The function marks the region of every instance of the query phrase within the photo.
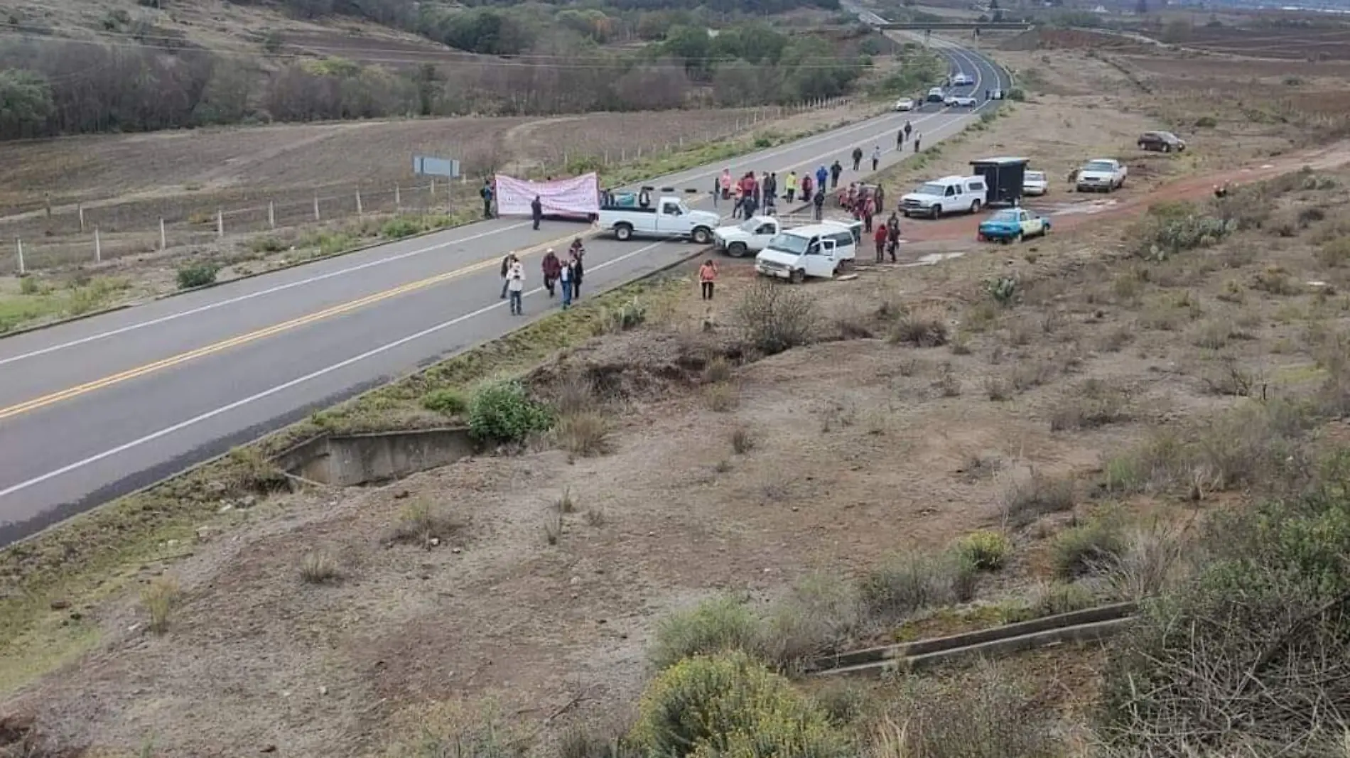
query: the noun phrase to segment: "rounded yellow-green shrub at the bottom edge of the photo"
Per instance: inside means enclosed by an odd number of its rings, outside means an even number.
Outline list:
[[[699,655],[643,693],[633,743],[666,758],[848,758],[848,738],[791,684],[744,653]]]

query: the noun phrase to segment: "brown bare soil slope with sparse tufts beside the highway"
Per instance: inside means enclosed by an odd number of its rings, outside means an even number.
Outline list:
[[[1050,84],[1084,88],[1091,70],[1080,70],[1068,65]],[[1066,171],[1111,146],[1133,150],[1142,113],[1162,108],[1127,90],[1034,100],[937,161],[998,148]],[[608,455],[540,444],[235,508],[227,527],[166,546],[190,556],[124,566],[134,587],[181,583],[165,634],[146,630],[134,593],[73,599],[74,615],[53,612],[96,633],[94,650],[9,693],[0,713],[31,715],[68,747],[130,753],[153,738],[163,755],[332,757],[378,754],[429,707],[493,696],[547,754],[568,726],[632,707],[649,674],[645,645],[670,610],[717,591],[764,600],[807,572],[857,575],[899,549],[1003,529],[1015,483],[1071,479],[1076,504],[1010,529],[1014,568],[981,599],[1021,592],[1048,579],[1048,541],[1075,518],[1180,507],[1166,494],[1103,494],[1103,461],[1243,403],[1223,390],[1233,367],[1273,395],[1322,380],[1308,334],[1343,330],[1350,313],[1350,260],[1326,254],[1350,235],[1331,212],[1350,201],[1350,154],[1292,151],[1303,135],[1262,129],[1197,139],[1183,156],[1130,155],[1152,169],[1099,213],[1058,210],[1045,240],[979,245],[968,218],[907,224],[903,262],[805,287],[824,341],[736,367],[725,411],[710,407],[699,367],[737,337],[753,274],[726,263],[710,305],[690,279],[672,312],[533,375],[545,388],[574,371],[622,378],[603,411]],[[1133,254],[1149,205],[1304,165],[1316,181],[1272,190],[1261,228],[1164,262]],[[1045,202],[1079,202],[1066,197],[1056,189]],[[1007,305],[988,293],[998,278],[1017,282]],[[896,313],[938,324],[945,344],[888,340]],[[1075,422],[1066,411],[1103,387],[1119,413]],[[736,430],[748,450],[733,450]],[[545,525],[564,492],[575,511],[551,544]],[[1187,507],[1224,494],[1197,496]],[[462,527],[431,549],[390,545],[418,500]],[[338,581],[301,580],[315,550],[338,557]],[[1091,705],[1094,664],[1057,661],[1019,665],[1054,684],[1048,707],[1072,722]]]

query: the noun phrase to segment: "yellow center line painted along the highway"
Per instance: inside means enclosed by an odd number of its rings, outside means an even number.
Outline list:
[[[574,237],[578,237],[578,236],[587,236],[589,237],[591,235],[594,235],[594,232],[590,231],[590,229],[587,229],[586,232],[582,232],[579,235],[578,233],[571,233],[571,235],[567,235],[567,236],[563,236],[563,237],[558,237],[558,239],[547,241],[547,243],[540,243],[540,244],[528,247],[524,251],[514,251],[514,252],[516,252],[517,256],[524,258],[524,256],[526,256],[529,254],[539,252],[539,251],[545,250],[548,247],[563,244],[564,241],[567,241],[570,239],[574,239]],[[84,395],[84,394],[88,394],[88,392],[93,392],[96,390],[103,390],[105,387],[111,387],[113,384],[119,384],[122,382],[127,382],[130,379],[136,379],[139,376],[144,376],[144,375],[153,374],[155,371],[162,371],[165,368],[170,368],[170,367],[174,367],[174,366],[178,366],[181,363],[188,363],[189,360],[196,360],[198,357],[204,357],[204,356],[213,355],[213,353],[217,353],[217,352],[221,352],[221,351],[227,351],[230,348],[236,348],[239,345],[246,345],[248,343],[252,343],[252,341],[256,341],[256,340],[262,340],[265,337],[271,337],[274,334],[279,334],[282,332],[288,332],[288,330],[296,329],[298,326],[305,326],[306,324],[315,324],[315,322],[323,321],[325,318],[332,318],[333,316],[340,316],[343,313],[348,313],[348,312],[356,310],[359,308],[364,308],[367,305],[377,303],[377,302],[381,302],[381,301],[385,301],[385,299],[389,299],[389,298],[393,298],[393,297],[398,297],[398,295],[404,295],[404,294],[408,294],[408,293],[412,293],[412,291],[416,291],[416,290],[421,290],[421,289],[429,287],[432,285],[439,285],[439,283],[447,282],[450,279],[456,279],[456,278],[463,276],[466,274],[473,274],[475,271],[482,271],[485,268],[489,268],[491,266],[497,266],[500,263],[501,263],[501,260],[493,260],[493,259],[481,260],[478,263],[474,263],[474,264],[470,264],[470,266],[464,266],[463,268],[456,268],[455,271],[447,271],[444,274],[436,274],[433,276],[427,276],[425,279],[418,279],[416,282],[409,282],[406,285],[400,285],[397,287],[392,287],[392,289],[387,289],[387,290],[383,290],[383,291],[379,291],[379,293],[374,293],[374,294],[366,295],[363,298],[358,298],[358,299],[354,299],[354,301],[348,301],[348,302],[343,302],[343,303],[331,306],[331,308],[325,308],[324,310],[317,310],[315,313],[309,313],[309,314],[301,316],[298,318],[292,318],[290,321],[284,321],[281,324],[274,324],[271,326],[266,326],[266,328],[258,329],[255,332],[248,332],[246,334],[239,334],[236,337],[230,337],[228,340],[221,340],[219,343],[213,343],[213,344],[209,344],[209,345],[200,347],[197,349],[192,349],[192,351],[188,351],[188,352],[184,352],[184,353],[178,353],[178,355],[174,355],[174,356],[170,356],[170,357],[165,357],[165,359],[157,360],[154,363],[147,363],[147,364],[139,366],[136,368],[128,368],[127,371],[122,371],[119,374],[112,374],[112,375],[104,376],[101,379],[94,379],[93,382],[86,382],[84,384],[77,384],[77,386],[66,388],[66,390],[51,392],[49,395],[42,395],[40,398],[34,398],[31,401],[24,401],[22,403],[0,409],[0,421],[3,421],[5,418],[9,418],[9,417],[14,417],[14,415],[19,415],[19,414],[23,414],[23,413],[38,410],[40,407],[46,407],[46,406],[50,406],[53,403],[58,403],[61,401],[68,401],[68,399],[72,399],[72,398],[77,398],[80,395]]]

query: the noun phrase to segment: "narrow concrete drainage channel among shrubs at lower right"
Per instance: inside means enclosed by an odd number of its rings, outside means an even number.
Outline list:
[[[853,650],[819,658],[807,673],[815,677],[879,677],[1069,642],[1098,642],[1133,622],[1135,608],[1135,603],[1114,603],[937,639]]]

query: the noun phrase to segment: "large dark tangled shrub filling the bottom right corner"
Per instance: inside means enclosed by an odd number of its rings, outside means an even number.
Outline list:
[[[1343,459],[1299,498],[1216,514],[1197,576],[1112,642],[1102,732],[1135,754],[1334,755],[1350,703]]]

